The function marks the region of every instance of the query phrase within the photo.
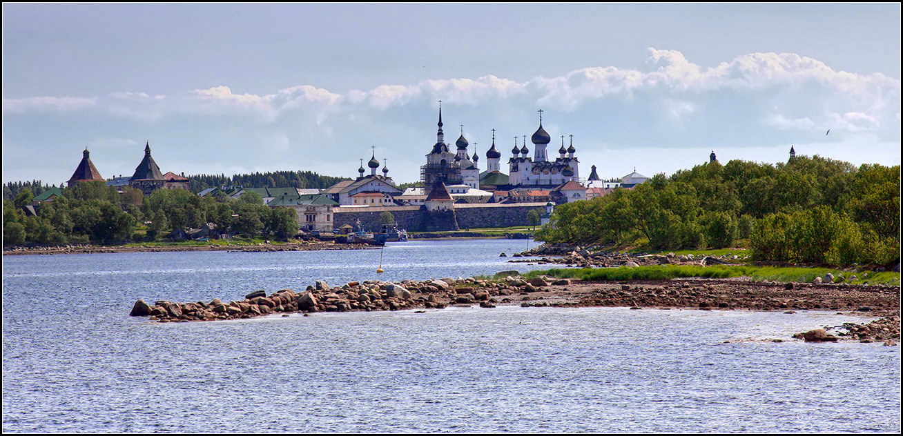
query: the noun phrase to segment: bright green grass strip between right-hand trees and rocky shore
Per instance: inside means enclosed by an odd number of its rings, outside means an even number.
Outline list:
[[[755,281],[811,283],[815,277],[834,275],[834,282],[856,275],[851,284],[893,284],[899,285],[900,274],[892,272],[842,271],[832,268],[777,267],[749,265],[652,265],[619,268],[554,268],[545,271],[531,271],[527,277],[549,275],[560,278],[579,278],[585,281],[625,281],[625,280],[670,280],[680,277],[731,278],[749,277]]]

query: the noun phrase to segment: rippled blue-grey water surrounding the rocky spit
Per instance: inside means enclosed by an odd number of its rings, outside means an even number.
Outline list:
[[[525,271],[387,246],[384,280]],[[3,431],[900,431],[900,348],[825,312],[499,307],[151,324],[135,300],[376,278],[379,251],[3,258]],[[731,343],[724,343],[730,340]]]

